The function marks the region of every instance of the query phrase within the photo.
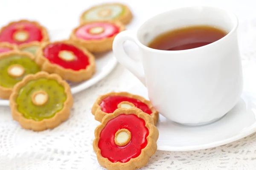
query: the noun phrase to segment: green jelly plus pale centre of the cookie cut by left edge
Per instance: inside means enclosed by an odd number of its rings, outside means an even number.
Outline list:
[[[0,86],[12,88],[28,74],[40,71],[38,65],[29,57],[13,54],[0,59]]]

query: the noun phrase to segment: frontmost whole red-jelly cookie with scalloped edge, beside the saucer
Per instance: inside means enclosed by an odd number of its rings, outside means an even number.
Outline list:
[[[95,129],[93,150],[108,170],[134,170],[147,164],[159,136],[153,118],[138,108],[119,108]]]

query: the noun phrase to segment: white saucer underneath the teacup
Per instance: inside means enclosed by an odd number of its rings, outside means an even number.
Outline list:
[[[148,99],[143,85],[137,85],[129,92]],[[160,115],[157,128],[157,150],[200,150],[236,141],[256,131],[256,93],[243,92],[229,113],[208,125],[180,125]]]

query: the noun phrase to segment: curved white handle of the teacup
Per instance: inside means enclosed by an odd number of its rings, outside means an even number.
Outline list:
[[[129,55],[126,54],[124,50],[123,43],[127,40],[132,41],[137,45],[136,40],[130,31],[122,31],[116,35],[113,41],[114,56],[116,57],[117,61],[121,65],[125,66],[125,68],[127,68],[129,71],[131,71],[131,73],[134,74],[134,76],[136,76],[143,83],[143,85],[146,85],[142,63],[132,59]]]

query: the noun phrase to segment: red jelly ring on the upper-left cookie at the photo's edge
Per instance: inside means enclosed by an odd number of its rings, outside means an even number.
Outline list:
[[[29,34],[28,38],[24,41],[17,41],[14,34],[17,31],[25,31]],[[23,44],[31,41],[41,41],[43,39],[42,31],[33,23],[19,22],[4,28],[0,33],[0,42],[9,42],[12,44]]]

